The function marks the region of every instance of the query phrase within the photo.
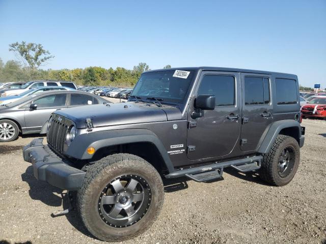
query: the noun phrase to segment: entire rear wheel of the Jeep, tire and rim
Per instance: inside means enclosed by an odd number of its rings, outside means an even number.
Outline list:
[[[290,136],[278,135],[260,168],[260,177],[274,186],[285,186],[294,177],[300,162],[300,147]]]

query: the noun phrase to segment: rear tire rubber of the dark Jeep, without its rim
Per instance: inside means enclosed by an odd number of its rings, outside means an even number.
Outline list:
[[[293,148],[295,155],[294,165],[286,177],[281,177],[278,172],[278,163],[282,150],[286,147]],[[290,136],[278,135],[269,152],[263,156],[260,168],[260,178],[274,186],[285,186],[294,177],[300,162],[300,146],[297,141]]]

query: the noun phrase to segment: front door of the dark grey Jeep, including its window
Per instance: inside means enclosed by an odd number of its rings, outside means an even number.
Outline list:
[[[240,132],[239,74],[202,72],[195,94],[214,95],[215,109],[204,110],[202,117],[193,119],[194,105],[189,108],[188,159],[229,155],[236,146]]]

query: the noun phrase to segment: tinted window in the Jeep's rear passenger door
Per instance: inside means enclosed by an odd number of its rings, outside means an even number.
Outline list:
[[[263,77],[244,77],[244,100],[246,105],[268,104],[269,79]]]

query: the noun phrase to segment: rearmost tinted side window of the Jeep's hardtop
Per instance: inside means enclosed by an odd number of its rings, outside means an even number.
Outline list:
[[[277,104],[296,104],[297,91],[295,80],[275,79]]]

